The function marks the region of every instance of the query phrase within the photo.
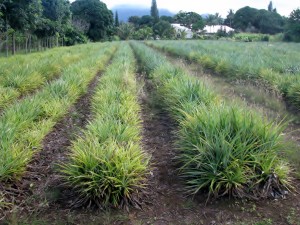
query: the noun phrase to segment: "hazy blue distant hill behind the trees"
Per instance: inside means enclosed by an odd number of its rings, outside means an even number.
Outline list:
[[[118,5],[111,9],[113,13],[118,11],[119,20],[127,22],[130,16],[144,16],[150,15],[150,8],[134,5]],[[167,9],[158,9],[159,16],[174,16],[175,13],[170,12]]]

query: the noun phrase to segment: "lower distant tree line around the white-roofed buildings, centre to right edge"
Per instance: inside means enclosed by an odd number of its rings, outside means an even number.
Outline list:
[[[153,14],[153,8],[157,7],[152,0],[151,15],[131,16],[128,23],[120,24],[118,36],[121,39],[149,39],[159,37],[162,39],[174,39],[184,37],[183,33],[176,33],[172,29],[172,23],[179,23],[190,28],[195,36],[205,25],[227,25],[237,32],[277,34],[283,33],[285,41],[300,41],[300,9],[295,9],[289,17],[283,17],[273,7],[272,1],[266,9],[255,9],[249,6],[236,12],[229,10],[225,19],[219,13],[208,14],[204,17],[196,12],[180,11],[175,16],[158,16]]]

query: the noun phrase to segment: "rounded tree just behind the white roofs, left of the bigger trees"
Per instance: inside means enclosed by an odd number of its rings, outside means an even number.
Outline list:
[[[174,16],[174,21],[192,30],[203,29],[204,27],[204,22],[202,17],[195,12],[180,11]]]

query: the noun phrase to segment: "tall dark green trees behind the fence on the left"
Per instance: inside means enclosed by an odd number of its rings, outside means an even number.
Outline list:
[[[6,55],[108,39],[113,13],[99,0],[0,0],[0,50]]]

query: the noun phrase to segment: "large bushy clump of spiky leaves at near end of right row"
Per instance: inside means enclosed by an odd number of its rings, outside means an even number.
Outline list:
[[[288,166],[277,155],[282,148],[280,125],[219,105],[201,106],[179,128],[180,172],[190,193],[207,188],[215,196],[266,197],[257,189],[272,173],[279,176],[280,185],[289,181]]]

